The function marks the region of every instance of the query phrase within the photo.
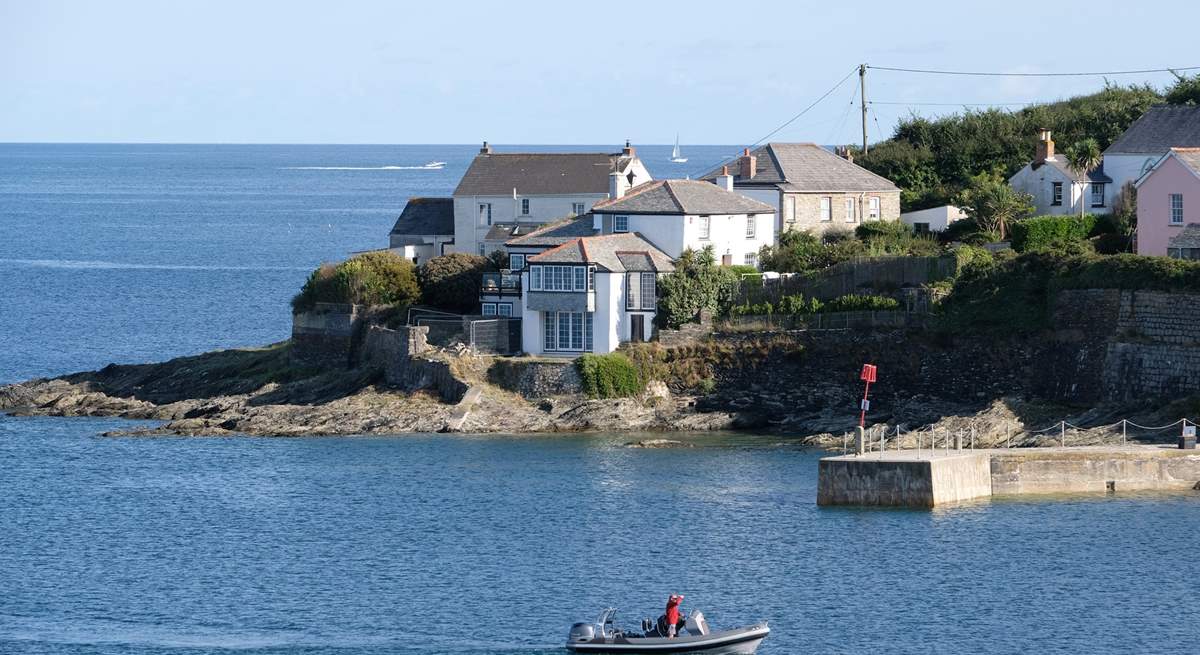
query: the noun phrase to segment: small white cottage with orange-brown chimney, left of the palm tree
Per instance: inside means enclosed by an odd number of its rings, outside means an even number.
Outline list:
[[[1108,158],[1088,173],[1075,173],[1067,158],[1055,152],[1050,131],[1043,130],[1033,161],[1008,179],[1014,190],[1033,197],[1038,216],[1049,214],[1108,214],[1112,206],[1112,178]]]

